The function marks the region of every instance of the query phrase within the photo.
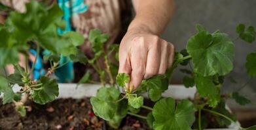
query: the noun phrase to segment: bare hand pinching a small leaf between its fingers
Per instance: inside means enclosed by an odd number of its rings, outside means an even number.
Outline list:
[[[126,32],[119,49],[119,73],[131,80],[126,87],[135,89],[143,79],[164,74],[172,66],[174,45],[150,32]],[[133,89],[133,88],[132,88]]]

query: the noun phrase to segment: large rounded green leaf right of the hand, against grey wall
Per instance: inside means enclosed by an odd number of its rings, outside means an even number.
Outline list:
[[[200,31],[189,38],[187,52],[200,75],[226,75],[233,68],[234,45],[225,33]]]

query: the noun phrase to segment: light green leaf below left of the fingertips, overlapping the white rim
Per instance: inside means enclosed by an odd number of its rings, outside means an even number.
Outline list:
[[[119,99],[119,96],[119,90],[114,87],[100,88],[96,97],[90,98],[94,113],[104,120],[111,120],[117,111],[118,104],[116,101]]]

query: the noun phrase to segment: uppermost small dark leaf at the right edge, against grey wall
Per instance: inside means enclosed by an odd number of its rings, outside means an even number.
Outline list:
[[[249,26],[246,29],[246,25],[240,23],[236,26],[236,33],[238,33],[239,37],[246,42],[252,43],[255,41],[256,32],[252,26]]]

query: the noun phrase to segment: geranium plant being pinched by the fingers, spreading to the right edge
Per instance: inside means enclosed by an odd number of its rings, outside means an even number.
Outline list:
[[[156,130],[204,129],[206,124],[210,123],[204,114],[210,113],[220,126],[227,127],[233,122],[240,129],[256,129],[256,126],[241,127],[236,123],[234,115],[225,107],[227,98],[233,98],[240,105],[246,105],[251,101],[240,95],[238,91],[231,94],[220,92],[225,75],[233,69],[232,40],[228,34],[220,31],[210,33],[202,25],[196,25],[196,29],[197,33],[189,38],[186,49],[175,53],[174,64],[166,74],[143,80],[137,90],[132,90],[133,86],[128,90],[126,85],[130,81],[130,76],[119,73],[116,78],[117,87],[111,85],[100,88],[96,97],[90,99],[95,114],[107,120],[115,128],[119,127],[122,118],[130,114],[147,120],[148,125]],[[246,29],[244,24],[239,24],[236,32],[238,38],[246,42],[251,43],[255,40],[256,33],[251,26]],[[196,86],[197,92],[192,100],[176,101],[170,97],[162,97],[162,92],[168,89],[173,70],[179,64],[191,66],[191,70],[181,69],[181,72],[187,73],[183,77],[185,87]],[[256,76],[255,66],[256,53],[249,53],[246,68],[252,78]],[[123,94],[120,93],[119,87],[124,88]],[[143,105],[141,94],[145,92],[149,99],[155,102],[153,107]],[[139,115],[139,109],[149,110],[147,116]]]

